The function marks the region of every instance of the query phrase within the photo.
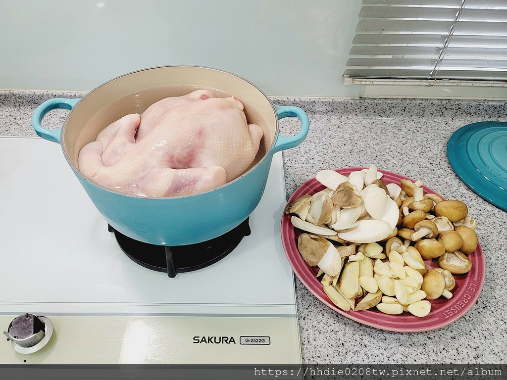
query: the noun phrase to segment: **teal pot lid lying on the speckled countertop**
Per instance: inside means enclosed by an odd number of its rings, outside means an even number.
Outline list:
[[[507,210],[507,123],[481,122],[461,127],[447,143],[447,158],[468,187]]]

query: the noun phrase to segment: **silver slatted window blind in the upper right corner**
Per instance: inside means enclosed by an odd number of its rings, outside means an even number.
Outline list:
[[[345,83],[507,85],[507,0],[363,0],[359,18]]]

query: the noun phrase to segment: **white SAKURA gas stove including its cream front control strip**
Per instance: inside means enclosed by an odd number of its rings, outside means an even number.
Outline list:
[[[5,337],[0,364],[300,364],[284,205],[278,153],[251,234],[169,278],[122,252],[59,145],[0,137],[0,329],[25,313],[53,324],[31,354]]]

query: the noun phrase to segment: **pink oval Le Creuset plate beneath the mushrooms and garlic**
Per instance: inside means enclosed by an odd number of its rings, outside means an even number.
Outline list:
[[[344,168],[337,169],[336,171],[348,176],[350,172],[361,169],[364,168]],[[400,184],[400,179],[407,178],[385,170],[379,171],[384,174],[382,180],[386,184],[392,182]],[[296,190],[291,199],[289,199],[288,203],[293,202],[305,194],[313,195],[323,189],[324,186],[315,178],[312,178]],[[438,194],[426,186],[424,186],[424,193]],[[318,272],[318,268],[309,267],[301,257],[301,254],[298,251],[298,237],[301,233],[302,232],[300,230],[296,229],[292,225],[291,217],[289,215],[283,215],[281,222],[283,248],[285,249],[287,259],[291,264],[294,273],[296,273],[296,276],[298,276],[308,290],[310,290],[325,305],[329,306],[339,314],[367,326],[399,332],[429,331],[446,326],[457,320],[470,310],[470,308],[472,308],[475,301],[479,298],[479,293],[481,292],[484,283],[484,275],[486,273],[484,256],[481,244],[479,244],[475,252],[468,255],[468,258],[472,261],[472,270],[464,275],[454,276],[456,279],[456,287],[452,290],[453,297],[451,299],[441,297],[439,299],[430,300],[431,312],[426,317],[419,318],[406,312],[401,315],[388,315],[381,313],[376,309],[344,312],[336,307],[322,290],[322,285],[320,284],[319,279],[315,277]],[[437,260],[426,260],[426,267],[428,269],[438,267]]]

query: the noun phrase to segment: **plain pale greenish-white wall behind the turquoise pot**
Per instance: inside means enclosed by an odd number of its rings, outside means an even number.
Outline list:
[[[360,0],[0,0],[0,89],[88,91],[160,65],[268,95],[357,97],[341,76]]]

